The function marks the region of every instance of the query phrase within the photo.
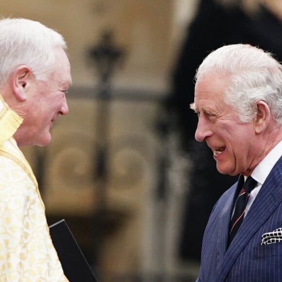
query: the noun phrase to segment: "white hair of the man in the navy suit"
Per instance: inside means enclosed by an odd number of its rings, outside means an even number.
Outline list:
[[[247,44],[223,46],[204,59],[195,79],[211,73],[230,76],[224,101],[237,111],[240,122],[256,116],[256,103],[261,100],[282,127],[282,66],[271,53]]]

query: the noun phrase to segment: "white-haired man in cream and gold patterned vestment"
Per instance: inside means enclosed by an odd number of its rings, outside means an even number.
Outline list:
[[[71,68],[63,37],[39,22],[0,20],[0,281],[67,281],[33,171],[18,146],[45,146]]]

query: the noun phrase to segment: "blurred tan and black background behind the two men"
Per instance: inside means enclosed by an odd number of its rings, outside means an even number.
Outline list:
[[[70,113],[23,148],[49,225],[65,218],[99,282],[190,282],[212,207],[236,177],[194,141],[194,73],[249,43],[282,60],[281,0],[1,1],[66,39]]]

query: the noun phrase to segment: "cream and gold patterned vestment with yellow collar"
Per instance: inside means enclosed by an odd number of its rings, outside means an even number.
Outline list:
[[[14,133],[22,119],[0,96],[0,281],[62,282],[44,204]]]

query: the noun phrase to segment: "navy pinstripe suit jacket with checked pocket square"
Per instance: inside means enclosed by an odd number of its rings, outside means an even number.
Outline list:
[[[220,197],[212,210],[197,282],[282,282],[282,242],[261,246],[264,233],[282,227],[282,157],[265,179],[226,250],[236,185]]]

